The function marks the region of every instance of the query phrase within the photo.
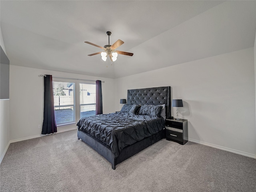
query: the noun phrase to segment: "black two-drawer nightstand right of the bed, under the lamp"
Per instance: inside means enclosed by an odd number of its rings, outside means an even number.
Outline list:
[[[172,140],[184,145],[188,142],[188,120],[166,119],[166,140]]]

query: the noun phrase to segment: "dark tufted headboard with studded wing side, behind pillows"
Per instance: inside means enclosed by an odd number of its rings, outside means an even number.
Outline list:
[[[162,105],[166,107],[166,118],[171,118],[171,87],[153,87],[127,90],[127,104]]]

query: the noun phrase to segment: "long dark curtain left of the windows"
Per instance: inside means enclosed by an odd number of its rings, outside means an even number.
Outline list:
[[[57,126],[54,115],[54,97],[52,88],[52,76],[44,76],[44,121],[42,134],[51,134],[57,132]]]

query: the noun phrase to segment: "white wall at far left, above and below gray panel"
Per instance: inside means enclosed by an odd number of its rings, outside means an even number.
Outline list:
[[[5,51],[2,31],[0,28],[0,45]],[[10,125],[9,125],[9,100],[0,100],[0,163],[4,158],[4,154],[9,146],[10,141]]]

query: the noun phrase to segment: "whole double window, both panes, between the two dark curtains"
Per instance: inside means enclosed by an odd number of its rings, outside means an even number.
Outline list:
[[[74,124],[82,117],[96,114],[96,84],[54,79],[53,94],[57,126]]]

